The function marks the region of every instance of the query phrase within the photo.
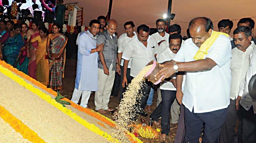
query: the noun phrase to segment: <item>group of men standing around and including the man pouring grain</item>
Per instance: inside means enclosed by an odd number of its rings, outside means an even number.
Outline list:
[[[119,27],[118,27],[119,28]],[[166,29],[168,28],[168,33]],[[104,16],[91,20],[88,31],[80,33],[76,83],[71,101],[87,107],[95,91],[95,110],[104,114],[113,96],[123,93],[131,80],[150,61],[163,68],[155,75],[161,79],[157,89],[157,107],[149,116],[155,124],[161,117],[161,139],[178,124],[175,142],[234,143],[256,142],[256,106],[248,93],[248,83],[255,74],[256,40],[252,37],[254,21],[240,19],[230,37],[233,22],[223,19],[219,31],[213,31],[209,18],[190,21],[185,41],[178,24],[167,27],[156,20],[155,34],[140,25],[135,31],[132,21],[124,23],[125,33],[116,35],[117,22]],[[154,85],[146,80],[142,98],[134,112],[147,117]],[[136,117],[135,117],[136,118]],[[239,123],[238,132],[235,131]],[[203,130],[202,130],[203,129]],[[202,140],[199,140],[203,132]]]

